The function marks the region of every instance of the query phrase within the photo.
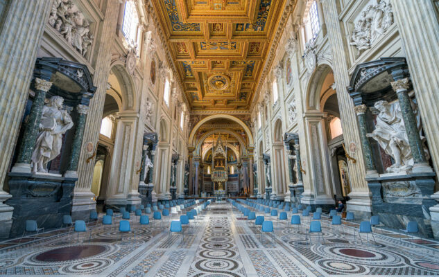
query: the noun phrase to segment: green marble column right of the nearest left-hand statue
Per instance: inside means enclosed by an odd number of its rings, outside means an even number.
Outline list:
[[[78,162],[80,154],[80,146],[83,143],[85,119],[87,118],[89,107],[85,105],[78,105],[78,118],[76,119],[74,141],[71,144],[71,154],[69,160],[69,168],[64,173],[64,177],[78,178]]]

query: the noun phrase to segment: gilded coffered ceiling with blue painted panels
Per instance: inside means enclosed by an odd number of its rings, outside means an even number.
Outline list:
[[[250,107],[286,0],[152,0],[197,110]]]

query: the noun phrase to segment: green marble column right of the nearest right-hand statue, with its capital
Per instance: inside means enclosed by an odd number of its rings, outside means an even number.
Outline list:
[[[392,88],[396,91],[399,106],[401,107],[402,119],[404,119],[404,125],[408,136],[408,143],[410,144],[411,153],[413,155],[413,161],[416,163],[427,163],[424,154],[424,146],[420,138],[418,124],[416,122],[415,114],[411,108],[411,100],[408,97],[408,78],[403,78],[392,82]]]

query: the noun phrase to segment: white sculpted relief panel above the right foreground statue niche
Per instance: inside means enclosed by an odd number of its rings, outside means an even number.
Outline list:
[[[372,47],[377,38],[386,33],[393,24],[393,11],[390,3],[373,0],[354,20],[354,30],[350,44],[355,46],[359,55]]]

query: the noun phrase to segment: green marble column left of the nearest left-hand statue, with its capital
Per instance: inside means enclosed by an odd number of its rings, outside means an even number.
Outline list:
[[[17,163],[31,163],[33,148],[39,132],[44,99],[46,98],[46,92],[51,87],[51,82],[35,78],[35,98],[33,99],[31,112],[24,127],[23,141],[21,142]]]

